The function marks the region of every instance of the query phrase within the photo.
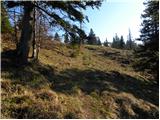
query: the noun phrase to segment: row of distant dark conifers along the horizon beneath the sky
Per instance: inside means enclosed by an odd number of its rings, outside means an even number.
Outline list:
[[[78,44],[80,42],[78,39],[75,40],[72,37],[70,37],[67,32],[63,36],[64,36],[64,43],[65,44],[74,44],[74,43]],[[63,41],[62,37],[60,37],[60,35],[58,33],[55,33],[52,40],[56,40],[59,42]],[[115,36],[113,37],[113,42],[109,43],[108,40],[106,39],[106,41],[104,41],[104,43],[102,43],[100,38],[98,36],[96,36],[96,34],[94,33],[93,29],[90,29],[89,34],[86,36],[86,38],[84,38],[82,40],[82,44],[100,45],[100,46],[103,45],[106,47],[110,46],[112,48],[128,49],[128,50],[136,49],[136,47],[138,46],[135,43],[135,41],[132,39],[130,30],[129,30],[128,39],[126,42],[125,42],[123,36],[119,37],[117,34],[115,34]]]

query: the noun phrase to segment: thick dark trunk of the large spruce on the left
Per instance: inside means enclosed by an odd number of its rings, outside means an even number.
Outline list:
[[[27,4],[24,6],[22,32],[18,47],[18,55],[21,64],[26,64],[28,62],[28,54],[32,36],[32,12],[32,4],[30,2],[27,2]]]

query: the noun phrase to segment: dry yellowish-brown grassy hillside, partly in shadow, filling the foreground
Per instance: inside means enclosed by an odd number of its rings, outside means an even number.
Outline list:
[[[2,53],[1,117],[158,118],[158,87],[133,70],[130,51],[85,46],[75,53],[44,44],[39,63],[25,68]]]

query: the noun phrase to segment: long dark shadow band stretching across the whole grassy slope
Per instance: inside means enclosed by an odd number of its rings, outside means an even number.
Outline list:
[[[32,88],[40,88],[49,83],[54,91],[65,94],[74,93],[75,88],[79,88],[85,94],[93,91],[99,94],[103,91],[127,92],[154,105],[159,105],[158,86],[143,79],[117,71],[105,73],[94,69],[66,69],[55,73],[54,67],[41,63],[30,63],[28,66],[20,67],[14,63],[12,54],[12,52],[2,53],[2,79],[16,80],[19,84]]]

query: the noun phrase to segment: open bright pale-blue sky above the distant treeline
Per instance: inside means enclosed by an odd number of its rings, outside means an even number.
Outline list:
[[[90,8],[85,11],[90,22],[86,22],[84,29],[89,33],[92,28],[101,42],[106,38],[112,42],[116,33],[119,37],[123,35],[126,41],[129,29],[132,38],[138,38],[141,14],[145,9],[143,2],[144,0],[104,0],[99,10]]]

